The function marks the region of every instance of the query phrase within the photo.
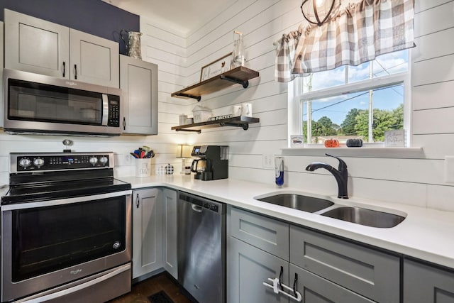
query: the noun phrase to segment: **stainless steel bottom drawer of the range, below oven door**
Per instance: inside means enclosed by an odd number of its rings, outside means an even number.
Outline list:
[[[16,303],[87,303],[106,302],[131,292],[131,263],[41,292]]]

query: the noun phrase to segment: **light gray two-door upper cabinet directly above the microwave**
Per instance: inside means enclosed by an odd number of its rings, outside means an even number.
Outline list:
[[[118,43],[5,9],[5,67],[119,87]]]

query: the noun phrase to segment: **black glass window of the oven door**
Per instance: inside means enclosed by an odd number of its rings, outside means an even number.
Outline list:
[[[12,280],[119,253],[126,248],[126,198],[12,211]]]

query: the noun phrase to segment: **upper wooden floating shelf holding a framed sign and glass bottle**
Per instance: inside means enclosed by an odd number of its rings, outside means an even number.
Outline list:
[[[174,92],[172,93],[172,97],[184,99],[192,98],[200,101],[201,96],[204,94],[218,92],[221,89],[226,89],[227,87],[231,87],[235,84],[241,84],[243,85],[243,88],[246,88],[249,86],[249,80],[258,76],[259,73],[255,70],[250,70],[248,67],[240,66],[224,72],[221,75],[217,75],[190,87],[181,89],[178,92]]]

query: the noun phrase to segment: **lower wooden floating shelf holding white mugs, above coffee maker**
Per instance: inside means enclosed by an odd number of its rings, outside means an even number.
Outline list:
[[[199,123],[192,123],[180,126],[172,126],[172,130],[175,131],[193,131],[201,133],[201,128],[214,128],[221,126],[234,126],[243,128],[245,131],[248,130],[250,123],[259,123],[260,119],[247,117],[247,116],[236,116],[226,119],[218,119],[214,121],[204,121]]]

